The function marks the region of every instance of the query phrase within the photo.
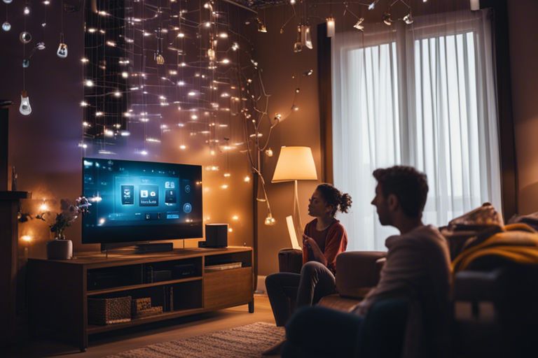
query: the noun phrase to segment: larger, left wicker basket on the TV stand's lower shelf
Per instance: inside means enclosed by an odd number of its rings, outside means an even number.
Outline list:
[[[130,322],[131,296],[115,299],[88,299],[89,324]]]

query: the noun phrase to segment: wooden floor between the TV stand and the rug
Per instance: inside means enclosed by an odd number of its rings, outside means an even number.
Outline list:
[[[78,348],[53,341],[36,341],[24,347],[15,347],[12,352],[0,352],[1,357],[104,357],[114,353],[142,348],[154,343],[174,341],[180,338],[200,336],[213,331],[243,326],[254,322],[275,323],[267,296],[254,296],[254,313],[247,305],[227,308],[212,313],[181,317],[176,320],[146,324],[132,329],[90,336],[86,352]]]

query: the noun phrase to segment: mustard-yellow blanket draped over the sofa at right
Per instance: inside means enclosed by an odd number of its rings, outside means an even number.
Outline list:
[[[538,233],[527,224],[508,224],[502,232],[457,255],[452,262],[453,273],[485,256],[498,256],[519,264],[538,264]]]

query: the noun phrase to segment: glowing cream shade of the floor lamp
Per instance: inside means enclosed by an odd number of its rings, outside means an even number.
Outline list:
[[[310,147],[282,147],[271,182],[317,180],[316,166]]]

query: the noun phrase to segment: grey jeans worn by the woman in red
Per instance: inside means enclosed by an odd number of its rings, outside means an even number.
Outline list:
[[[307,262],[298,273],[273,273],[265,278],[265,287],[278,327],[284,326],[291,316],[291,302],[296,307],[312,306],[322,297],[336,292],[333,273],[319,262]]]

